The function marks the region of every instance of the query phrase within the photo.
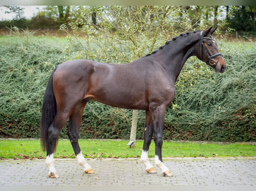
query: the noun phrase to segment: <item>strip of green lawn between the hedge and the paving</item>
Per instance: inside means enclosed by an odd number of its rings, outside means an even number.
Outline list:
[[[81,150],[87,158],[140,157],[143,141],[136,141],[130,149],[125,140],[79,140]],[[39,140],[0,140],[0,158],[44,158]],[[154,142],[149,148],[149,157],[154,157]],[[163,142],[162,157],[245,157],[256,156],[256,146],[249,144],[177,143]],[[59,140],[55,158],[75,158],[69,140]]]

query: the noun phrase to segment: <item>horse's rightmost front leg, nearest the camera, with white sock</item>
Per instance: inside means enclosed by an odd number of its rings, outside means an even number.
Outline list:
[[[163,164],[162,160],[162,145],[163,145],[163,122],[165,115],[165,106],[151,110],[151,116],[154,127],[154,142],[155,142],[155,164],[162,171],[164,176],[173,176],[171,171]]]

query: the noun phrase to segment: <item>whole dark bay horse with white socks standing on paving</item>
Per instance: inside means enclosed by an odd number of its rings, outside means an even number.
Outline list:
[[[155,165],[161,169],[163,176],[173,176],[162,161],[165,109],[174,98],[175,82],[189,57],[196,56],[218,73],[225,71],[225,61],[211,36],[215,30],[211,27],[180,34],[157,51],[128,64],[73,60],[54,68],[43,97],[40,122],[41,147],[47,150],[48,176],[59,177],[53,165],[53,153],[59,132],[68,118],[67,133],[78,164],[86,173],[94,173],[78,143],[81,118],[90,100],[114,107],[145,110],[140,160],[146,166],[146,172],[156,173],[148,160],[153,137]]]

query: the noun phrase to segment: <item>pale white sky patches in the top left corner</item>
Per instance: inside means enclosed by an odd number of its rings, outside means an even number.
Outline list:
[[[31,18],[34,14],[38,13],[39,10],[42,10],[43,7],[45,6],[20,6],[24,7],[24,17],[29,19]],[[6,9],[5,7],[0,7],[0,20],[12,20],[16,14],[15,13],[5,13],[5,11],[8,11],[9,9]]]

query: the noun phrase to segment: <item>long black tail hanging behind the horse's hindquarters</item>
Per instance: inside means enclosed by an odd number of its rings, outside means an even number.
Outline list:
[[[41,112],[41,122],[40,122],[40,139],[41,139],[41,148],[42,150],[47,150],[48,145],[48,128],[51,125],[56,112],[57,112],[57,104],[56,99],[53,93],[52,87],[52,76],[57,67],[52,71],[44,96],[43,96],[43,104],[42,104],[42,112]],[[55,144],[56,147],[56,144]],[[55,148],[54,148],[55,150]]]

